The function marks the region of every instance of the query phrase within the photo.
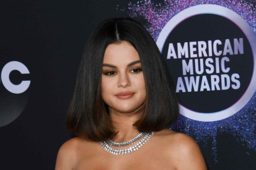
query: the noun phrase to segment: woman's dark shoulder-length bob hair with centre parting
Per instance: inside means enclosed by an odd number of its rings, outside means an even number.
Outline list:
[[[101,76],[106,47],[122,41],[138,51],[146,84],[143,114],[134,126],[140,132],[160,131],[178,118],[178,100],[154,39],[137,21],[109,19],[100,23],[88,39],[68,109],[67,127],[80,137],[106,141],[116,134],[102,99]]]

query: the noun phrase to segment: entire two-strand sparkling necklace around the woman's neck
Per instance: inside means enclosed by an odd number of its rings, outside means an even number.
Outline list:
[[[118,142],[114,142],[110,139],[108,141],[101,141],[100,144],[104,148],[104,150],[106,150],[106,152],[108,152],[110,154],[115,154],[115,155],[121,155],[121,154],[124,155],[127,153],[130,154],[132,152],[136,152],[136,150],[143,147],[143,145],[145,145],[148,142],[148,140],[152,137],[153,134],[154,134],[154,132],[150,132],[150,133],[142,132],[138,136],[134,137],[133,139],[131,139],[130,141],[127,141],[127,142],[118,143]],[[141,140],[136,145],[134,145],[132,147],[128,147],[126,149],[114,149],[114,148],[110,147],[110,146],[125,147],[128,145],[132,145],[134,142],[138,141],[139,139],[141,139]]]

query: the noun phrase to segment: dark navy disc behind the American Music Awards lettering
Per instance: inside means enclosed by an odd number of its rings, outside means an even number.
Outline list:
[[[212,74],[207,74],[204,71],[202,74],[197,74],[195,72],[194,65],[196,62],[195,59],[199,60],[198,63],[201,63],[200,59],[202,59],[204,63],[204,69],[207,69],[208,67],[205,66],[205,62],[206,59],[208,59],[209,57],[182,57],[182,59],[167,59],[166,57],[164,58],[167,65],[170,66],[170,73],[174,80],[175,86],[177,84],[178,77],[184,77],[182,73],[182,60],[185,60],[186,63],[189,63],[190,60],[193,62],[194,74],[187,74],[186,76],[188,78],[190,78],[190,76],[193,76],[194,79],[196,78],[196,76],[199,76],[199,89],[203,75],[206,76],[210,88],[212,75],[216,75],[220,79],[218,83],[220,90],[217,90],[215,87],[215,90],[207,91],[207,89],[204,89],[203,91],[198,90],[197,92],[195,92],[192,88],[191,92],[187,92],[187,90],[186,92],[178,92],[178,98],[182,106],[201,113],[213,113],[232,106],[242,97],[250,84],[253,72],[253,57],[250,43],[248,42],[248,39],[244,35],[243,31],[234,22],[222,16],[218,16],[215,14],[200,14],[192,16],[182,21],[173,29],[173,31],[167,37],[166,42],[164,43],[164,47],[162,50],[163,56],[167,56],[169,43],[173,43],[174,49],[177,49],[177,43],[181,43],[181,45],[184,45],[185,42],[189,43],[193,41],[205,41],[206,44],[208,44],[209,40],[211,40],[212,43],[214,42],[214,40],[220,40],[222,42],[222,45],[218,45],[218,49],[223,51],[225,40],[229,39],[232,51],[234,51],[234,39],[239,40],[240,38],[243,39],[244,54],[238,53],[237,55],[230,55],[229,53],[227,53],[226,55],[216,56],[212,52],[211,58],[214,61],[214,63],[212,63],[212,66],[215,70],[217,64],[217,62],[215,61],[216,58],[218,58],[219,60],[218,66],[221,67],[221,59],[223,57],[228,57],[230,61],[225,62],[225,68],[230,68],[230,71],[228,71],[227,73],[223,72],[220,68],[219,73],[216,73],[216,71],[214,71]],[[196,45],[194,45],[194,47],[196,48]],[[208,52],[208,50],[209,47],[206,48],[206,53]],[[195,51],[195,54],[199,56],[198,51]],[[199,67],[198,70],[200,70],[200,68],[201,67]],[[228,75],[225,76],[225,79],[223,79],[225,81],[230,81],[230,85],[236,84],[232,83],[231,80],[226,79],[231,79],[232,74],[238,74],[239,78],[237,78],[237,80],[240,81],[240,88],[233,89],[230,86],[230,88],[228,88],[227,90],[221,90],[222,74]],[[184,79],[183,81],[186,86]]]

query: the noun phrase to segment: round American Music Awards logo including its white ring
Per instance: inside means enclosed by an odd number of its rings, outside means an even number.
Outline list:
[[[218,121],[242,109],[256,90],[256,37],[228,8],[198,5],[174,16],[157,45],[176,86],[181,114]]]

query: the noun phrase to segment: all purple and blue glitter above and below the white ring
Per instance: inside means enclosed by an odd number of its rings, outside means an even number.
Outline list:
[[[226,7],[244,18],[256,33],[255,1],[244,0],[164,0],[156,4],[151,0],[143,0],[128,4],[128,14],[133,18],[143,18],[148,23],[146,29],[156,41],[164,25],[176,14],[200,4],[216,4]],[[117,6],[118,9],[118,6]],[[125,11],[124,9],[121,11]],[[228,133],[236,137],[240,145],[256,151],[256,92],[250,101],[236,114],[214,122],[201,122],[180,115],[178,121],[170,127],[174,131],[186,133],[197,142],[206,146],[212,139],[212,154],[218,162],[216,136],[218,133]],[[250,154],[246,152],[246,154]]]

